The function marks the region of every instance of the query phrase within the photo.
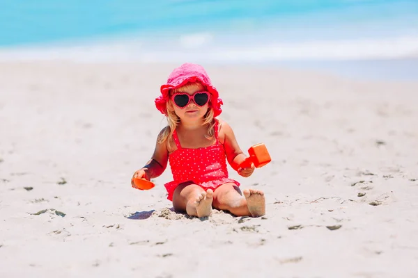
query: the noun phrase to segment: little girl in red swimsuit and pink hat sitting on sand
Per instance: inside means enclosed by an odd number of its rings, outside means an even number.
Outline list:
[[[228,177],[226,159],[242,177],[249,177],[254,165],[238,167],[246,156],[231,126],[215,118],[222,104],[203,67],[186,63],[173,70],[155,99],[169,124],[158,135],[152,158],[132,180],[159,177],[169,161],[173,181],[164,186],[176,211],[199,218],[212,208],[237,216],[264,215],[264,193],[245,189],[242,196],[240,183]]]

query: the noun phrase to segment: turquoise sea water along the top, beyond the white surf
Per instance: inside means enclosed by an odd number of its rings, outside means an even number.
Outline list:
[[[338,36],[337,28],[352,37],[418,33],[416,0],[0,0],[0,7],[0,46],[164,31],[245,34],[281,29],[274,35],[286,39],[302,33],[301,28],[322,28],[323,33],[304,35],[325,38]],[[292,35],[292,29],[298,32]]]

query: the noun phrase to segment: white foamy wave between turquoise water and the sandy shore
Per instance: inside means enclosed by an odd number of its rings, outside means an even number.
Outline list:
[[[232,41],[232,42],[231,42]],[[160,41],[102,40],[38,47],[0,49],[0,60],[135,61],[143,63],[230,63],[281,60],[370,60],[418,57],[418,37],[302,42],[219,40],[212,33],[193,33]],[[169,47],[168,47],[169,46]]]

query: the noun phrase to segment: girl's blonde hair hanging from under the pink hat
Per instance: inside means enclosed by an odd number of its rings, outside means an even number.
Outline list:
[[[171,96],[176,92],[187,92],[187,90],[206,90],[206,88],[201,83],[187,83],[180,88],[176,88],[171,90],[169,93],[169,101],[167,101],[167,122],[168,125],[163,129],[160,135],[157,138],[157,142],[162,144],[166,140],[168,140],[169,144],[167,145],[167,149],[169,152],[171,151],[171,142],[173,140],[173,133],[176,129],[177,125],[180,123],[180,117],[176,115],[174,112],[173,104],[171,103]],[[206,138],[208,140],[212,139],[215,135],[215,120],[213,117],[213,109],[208,107],[208,111],[203,116],[203,126],[208,126],[208,133],[206,134]]]

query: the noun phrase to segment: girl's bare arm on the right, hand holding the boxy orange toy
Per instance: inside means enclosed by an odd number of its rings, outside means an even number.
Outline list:
[[[219,121],[220,122],[220,121]],[[233,170],[238,171],[244,177],[249,177],[252,172],[254,172],[254,165],[245,169],[239,169],[238,165],[242,163],[242,161],[247,158],[247,156],[242,152],[238,142],[235,138],[235,134],[231,129],[231,126],[226,122],[222,121],[221,130],[219,131],[219,140],[222,142],[225,148],[226,159],[229,162],[229,165],[233,168]]]

